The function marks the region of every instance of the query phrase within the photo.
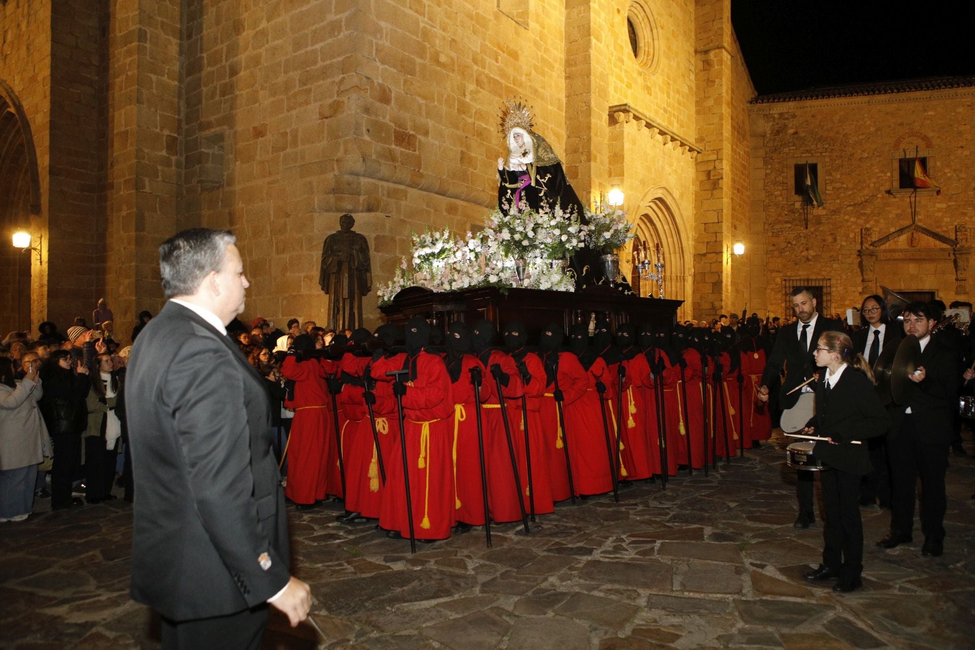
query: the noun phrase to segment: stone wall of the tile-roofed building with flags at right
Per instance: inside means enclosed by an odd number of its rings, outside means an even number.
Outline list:
[[[830,281],[833,312],[859,307],[880,285],[933,290],[946,304],[971,299],[954,259],[957,252],[967,266],[966,226],[975,223],[975,90],[765,103],[750,113],[753,219],[765,238],[765,270],[752,290],[762,316],[784,313],[784,281],[798,278]],[[870,246],[912,223],[912,192],[898,189],[897,159],[916,147],[941,186],[940,194],[917,193],[917,224],[957,245],[916,232]],[[806,160],[818,165],[825,202],[808,210],[808,229],[793,172]]]

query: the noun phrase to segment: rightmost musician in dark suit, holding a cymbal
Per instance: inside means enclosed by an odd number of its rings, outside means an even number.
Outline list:
[[[920,363],[914,374],[914,390],[904,404],[891,403],[893,422],[887,442],[890,454],[890,534],[877,545],[893,549],[913,541],[915,490],[920,477],[920,526],[924,544],[920,553],[939,556],[945,540],[945,470],[948,449],[955,438],[954,409],[961,381],[958,355],[952,346],[931,334],[937,324],[931,307],[912,302],[904,308],[904,333],[917,336]]]

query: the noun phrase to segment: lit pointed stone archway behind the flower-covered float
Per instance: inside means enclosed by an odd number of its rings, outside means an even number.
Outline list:
[[[690,295],[690,271],[687,268],[687,254],[684,247],[686,236],[683,217],[674,195],[665,187],[654,187],[647,191],[638,204],[636,238],[626,251],[625,262],[634,262],[634,248],[638,243],[653,251],[659,244],[664,262],[664,297],[674,300],[687,300]],[[652,261],[652,255],[651,255]],[[629,267],[632,270],[632,266]],[[632,283],[631,283],[632,284]],[[637,287],[636,284],[633,285]],[[642,296],[657,295],[655,282],[642,280],[639,283]],[[686,318],[689,305],[684,304],[678,318]]]

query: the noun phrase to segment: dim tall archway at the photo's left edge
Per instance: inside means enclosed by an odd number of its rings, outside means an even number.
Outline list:
[[[30,125],[20,100],[0,79],[0,332],[30,328],[31,266],[28,251],[14,249],[11,235],[30,229],[41,211],[40,176]]]

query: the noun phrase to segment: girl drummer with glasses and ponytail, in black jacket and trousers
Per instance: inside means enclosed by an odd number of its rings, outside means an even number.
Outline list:
[[[803,434],[823,437],[813,453],[832,471],[821,472],[826,527],[823,563],[804,574],[818,582],[836,579],[836,593],[862,587],[863,522],[860,519],[860,478],[870,472],[867,440],[886,433],[890,417],[874,389],[874,374],[850,337],[827,331],[816,344],[815,361],[826,371],[815,384],[816,414]]]

